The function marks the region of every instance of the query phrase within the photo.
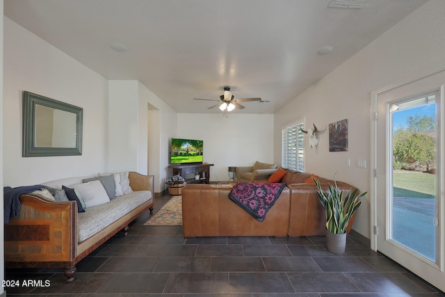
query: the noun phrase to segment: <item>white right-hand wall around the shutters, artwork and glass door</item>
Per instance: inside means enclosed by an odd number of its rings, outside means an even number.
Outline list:
[[[275,161],[280,160],[280,129],[306,117],[319,134],[318,152],[307,148],[306,171],[369,191],[371,183],[371,92],[445,68],[445,1],[430,0],[275,113]],[[320,58],[329,58],[321,56]],[[327,125],[348,119],[348,152],[329,152]],[[351,159],[351,167],[346,159]],[[366,159],[368,168],[356,167]],[[370,195],[353,229],[370,238]]]

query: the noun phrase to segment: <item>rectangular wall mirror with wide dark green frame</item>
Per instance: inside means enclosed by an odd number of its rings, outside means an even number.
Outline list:
[[[81,155],[82,116],[81,107],[24,91],[22,156]]]

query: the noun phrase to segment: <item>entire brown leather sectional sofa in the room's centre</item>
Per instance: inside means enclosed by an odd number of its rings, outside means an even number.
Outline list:
[[[334,183],[332,179],[318,179],[326,191],[327,184]],[[324,235],[324,210],[318,201],[318,189],[312,182],[312,174],[286,169],[281,182],[287,187],[261,223],[229,200],[231,185],[187,185],[182,190],[184,237]],[[344,182],[337,181],[337,186],[345,191],[355,190],[354,186]],[[351,218],[348,232],[354,218]]]

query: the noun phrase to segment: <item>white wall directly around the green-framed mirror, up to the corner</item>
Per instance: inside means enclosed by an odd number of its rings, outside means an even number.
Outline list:
[[[106,170],[107,81],[4,17],[3,183],[25,186]],[[81,156],[22,157],[22,92],[83,108]]]

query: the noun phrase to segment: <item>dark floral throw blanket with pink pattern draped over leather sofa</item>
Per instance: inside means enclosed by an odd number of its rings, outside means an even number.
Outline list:
[[[270,207],[280,197],[286,184],[263,184],[254,182],[239,182],[229,193],[229,199],[238,204],[251,216],[262,222]]]

